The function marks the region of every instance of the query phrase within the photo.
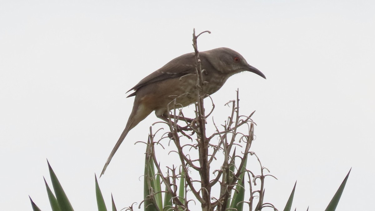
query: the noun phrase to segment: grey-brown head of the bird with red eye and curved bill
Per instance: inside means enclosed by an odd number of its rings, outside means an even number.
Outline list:
[[[217,71],[229,76],[242,71],[250,71],[266,78],[261,71],[249,65],[241,54],[230,48],[215,48],[203,51],[199,55],[204,55]]]

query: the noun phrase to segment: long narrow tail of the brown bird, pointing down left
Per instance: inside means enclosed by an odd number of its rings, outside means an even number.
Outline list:
[[[136,100],[136,99],[135,99]],[[104,168],[102,170],[102,173],[100,174],[99,178],[104,174],[105,170],[108,167],[108,164],[110,164],[113,155],[116,153],[118,147],[121,145],[123,140],[125,139],[127,133],[129,133],[130,130],[132,130],[133,127],[138,125],[140,121],[142,121],[144,118],[146,118],[152,110],[147,109],[144,105],[138,104],[138,102],[134,102],[132,113],[129,116],[129,120],[127,121],[126,127],[124,131],[122,132],[120,138],[118,139],[116,145],[112,149],[112,152],[110,154],[110,157],[108,157],[107,162],[105,162]]]

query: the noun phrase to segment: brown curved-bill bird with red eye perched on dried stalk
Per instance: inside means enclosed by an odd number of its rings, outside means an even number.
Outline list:
[[[204,81],[202,87],[204,95],[215,93],[229,77],[239,72],[253,72],[266,79],[261,71],[249,65],[241,54],[230,48],[222,47],[201,51],[199,52],[199,58]],[[129,131],[151,112],[155,111],[158,118],[166,120],[169,112],[168,104],[171,101],[175,101],[181,107],[196,102],[196,83],[195,53],[187,53],[172,59],[127,91],[134,90],[127,96],[135,96],[133,109],[126,127],[111,151],[100,176],[104,174]]]

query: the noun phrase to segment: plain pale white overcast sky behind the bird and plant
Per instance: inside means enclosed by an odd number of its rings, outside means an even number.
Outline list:
[[[0,204],[50,210],[46,158],[75,210],[96,210],[99,173],[133,104],[125,92],[174,57],[229,47],[267,80],[237,74],[212,97],[215,120],[239,88],[242,114],[257,110],[252,151],[278,180],[266,200],[323,210],[353,167],[338,209],[375,197],[374,1],[1,1]],[[99,180],[107,205],[143,196],[151,114],[130,131]],[[138,137],[138,138],[137,138]],[[163,158],[160,158],[163,159]],[[166,158],[164,158],[166,159]],[[140,178],[142,180],[142,178]]]

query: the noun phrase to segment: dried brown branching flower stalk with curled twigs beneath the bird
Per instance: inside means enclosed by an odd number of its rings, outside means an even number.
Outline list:
[[[189,202],[192,201],[199,202],[202,211],[234,210],[231,206],[242,207],[243,203],[247,203],[249,205],[249,210],[253,210],[253,202],[256,198],[258,203],[256,203],[255,210],[261,210],[263,207],[272,207],[277,210],[272,204],[263,203],[264,178],[272,175],[263,174],[263,171],[266,168],[261,165],[257,155],[250,151],[251,144],[254,140],[255,123],[251,119],[254,112],[249,116],[240,115],[238,90],[236,100],[229,101],[226,104],[231,107],[231,113],[228,116],[227,121],[225,121],[225,124],[218,127],[213,123],[216,131],[210,136],[207,136],[206,134],[207,118],[211,115],[215,106],[212,103],[211,111],[205,116],[203,99],[209,96],[205,96],[202,90],[204,84],[202,81],[201,60],[199,59],[199,51],[196,42],[198,36],[195,36],[194,30],[193,47],[196,58],[198,93],[196,96],[197,102],[195,103],[195,118],[186,118],[183,114],[183,109],[172,101],[168,105],[169,108],[172,108],[171,113],[169,113],[168,122],[165,123],[168,125],[169,132],[165,133],[160,139],[154,140],[155,136],[152,134],[150,128],[147,156],[149,159],[153,160],[157,174],[160,176],[162,183],[166,187],[165,191],[171,196],[173,204],[172,206],[165,207],[163,210],[190,210]],[[182,127],[181,124],[185,124],[186,126]],[[243,128],[246,126],[248,128],[247,133],[238,130],[240,127]],[[190,140],[190,142],[186,143],[186,139]],[[172,167],[167,167],[168,172],[170,172],[172,176],[170,176],[169,173],[167,173],[167,175],[163,173],[155,154],[155,145],[162,146],[162,142],[165,140],[174,143],[175,150],[172,150],[169,153],[177,152],[180,161],[178,164],[181,167],[180,172],[176,172],[174,167],[175,164]],[[235,154],[237,146],[242,148],[240,155]],[[162,146],[162,148],[164,147]],[[218,152],[221,152],[222,155]],[[197,154],[198,157],[192,156]],[[248,155],[255,155],[257,157],[261,168],[261,175],[255,176],[254,173],[246,169],[245,164]],[[211,164],[213,161],[217,160],[217,158],[220,158],[223,161],[220,164],[219,169],[214,170],[213,174],[211,174]],[[237,160],[237,163],[235,160]],[[199,178],[194,179],[194,173],[199,174]],[[243,186],[245,183],[242,185],[239,184],[239,179],[243,178],[243,182],[245,174],[248,175],[250,197],[247,201],[234,201],[231,199],[233,194],[236,195],[238,189],[244,188]],[[176,180],[181,176],[183,176],[184,179],[184,185],[182,186],[184,187],[183,197],[179,197],[177,193],[178,189],[181,189],[181,187],[178,188]],[[254,190],[254,186],[257,185],[257,179],[260,179],[260,188],[259,190]],[[150,180],[152,180],[152,178],[150,178]],[[151,203],[155,203],[156,193],[153,192],[154,190],[151,187],[151,182],[148,182],[147,185],[149,185],[148,190],[150,190],[148,199]],[[217,191],[212,193],[213,187],[219,187],[219,193]],[[190,199],[189,197],[192,198]],[[232,204],[236,202],[236,205],[229,205],[230,201],[232,201]],[[155,207],[157,206],[155,205]],[[155,210],[159,209],[156,208]]]

